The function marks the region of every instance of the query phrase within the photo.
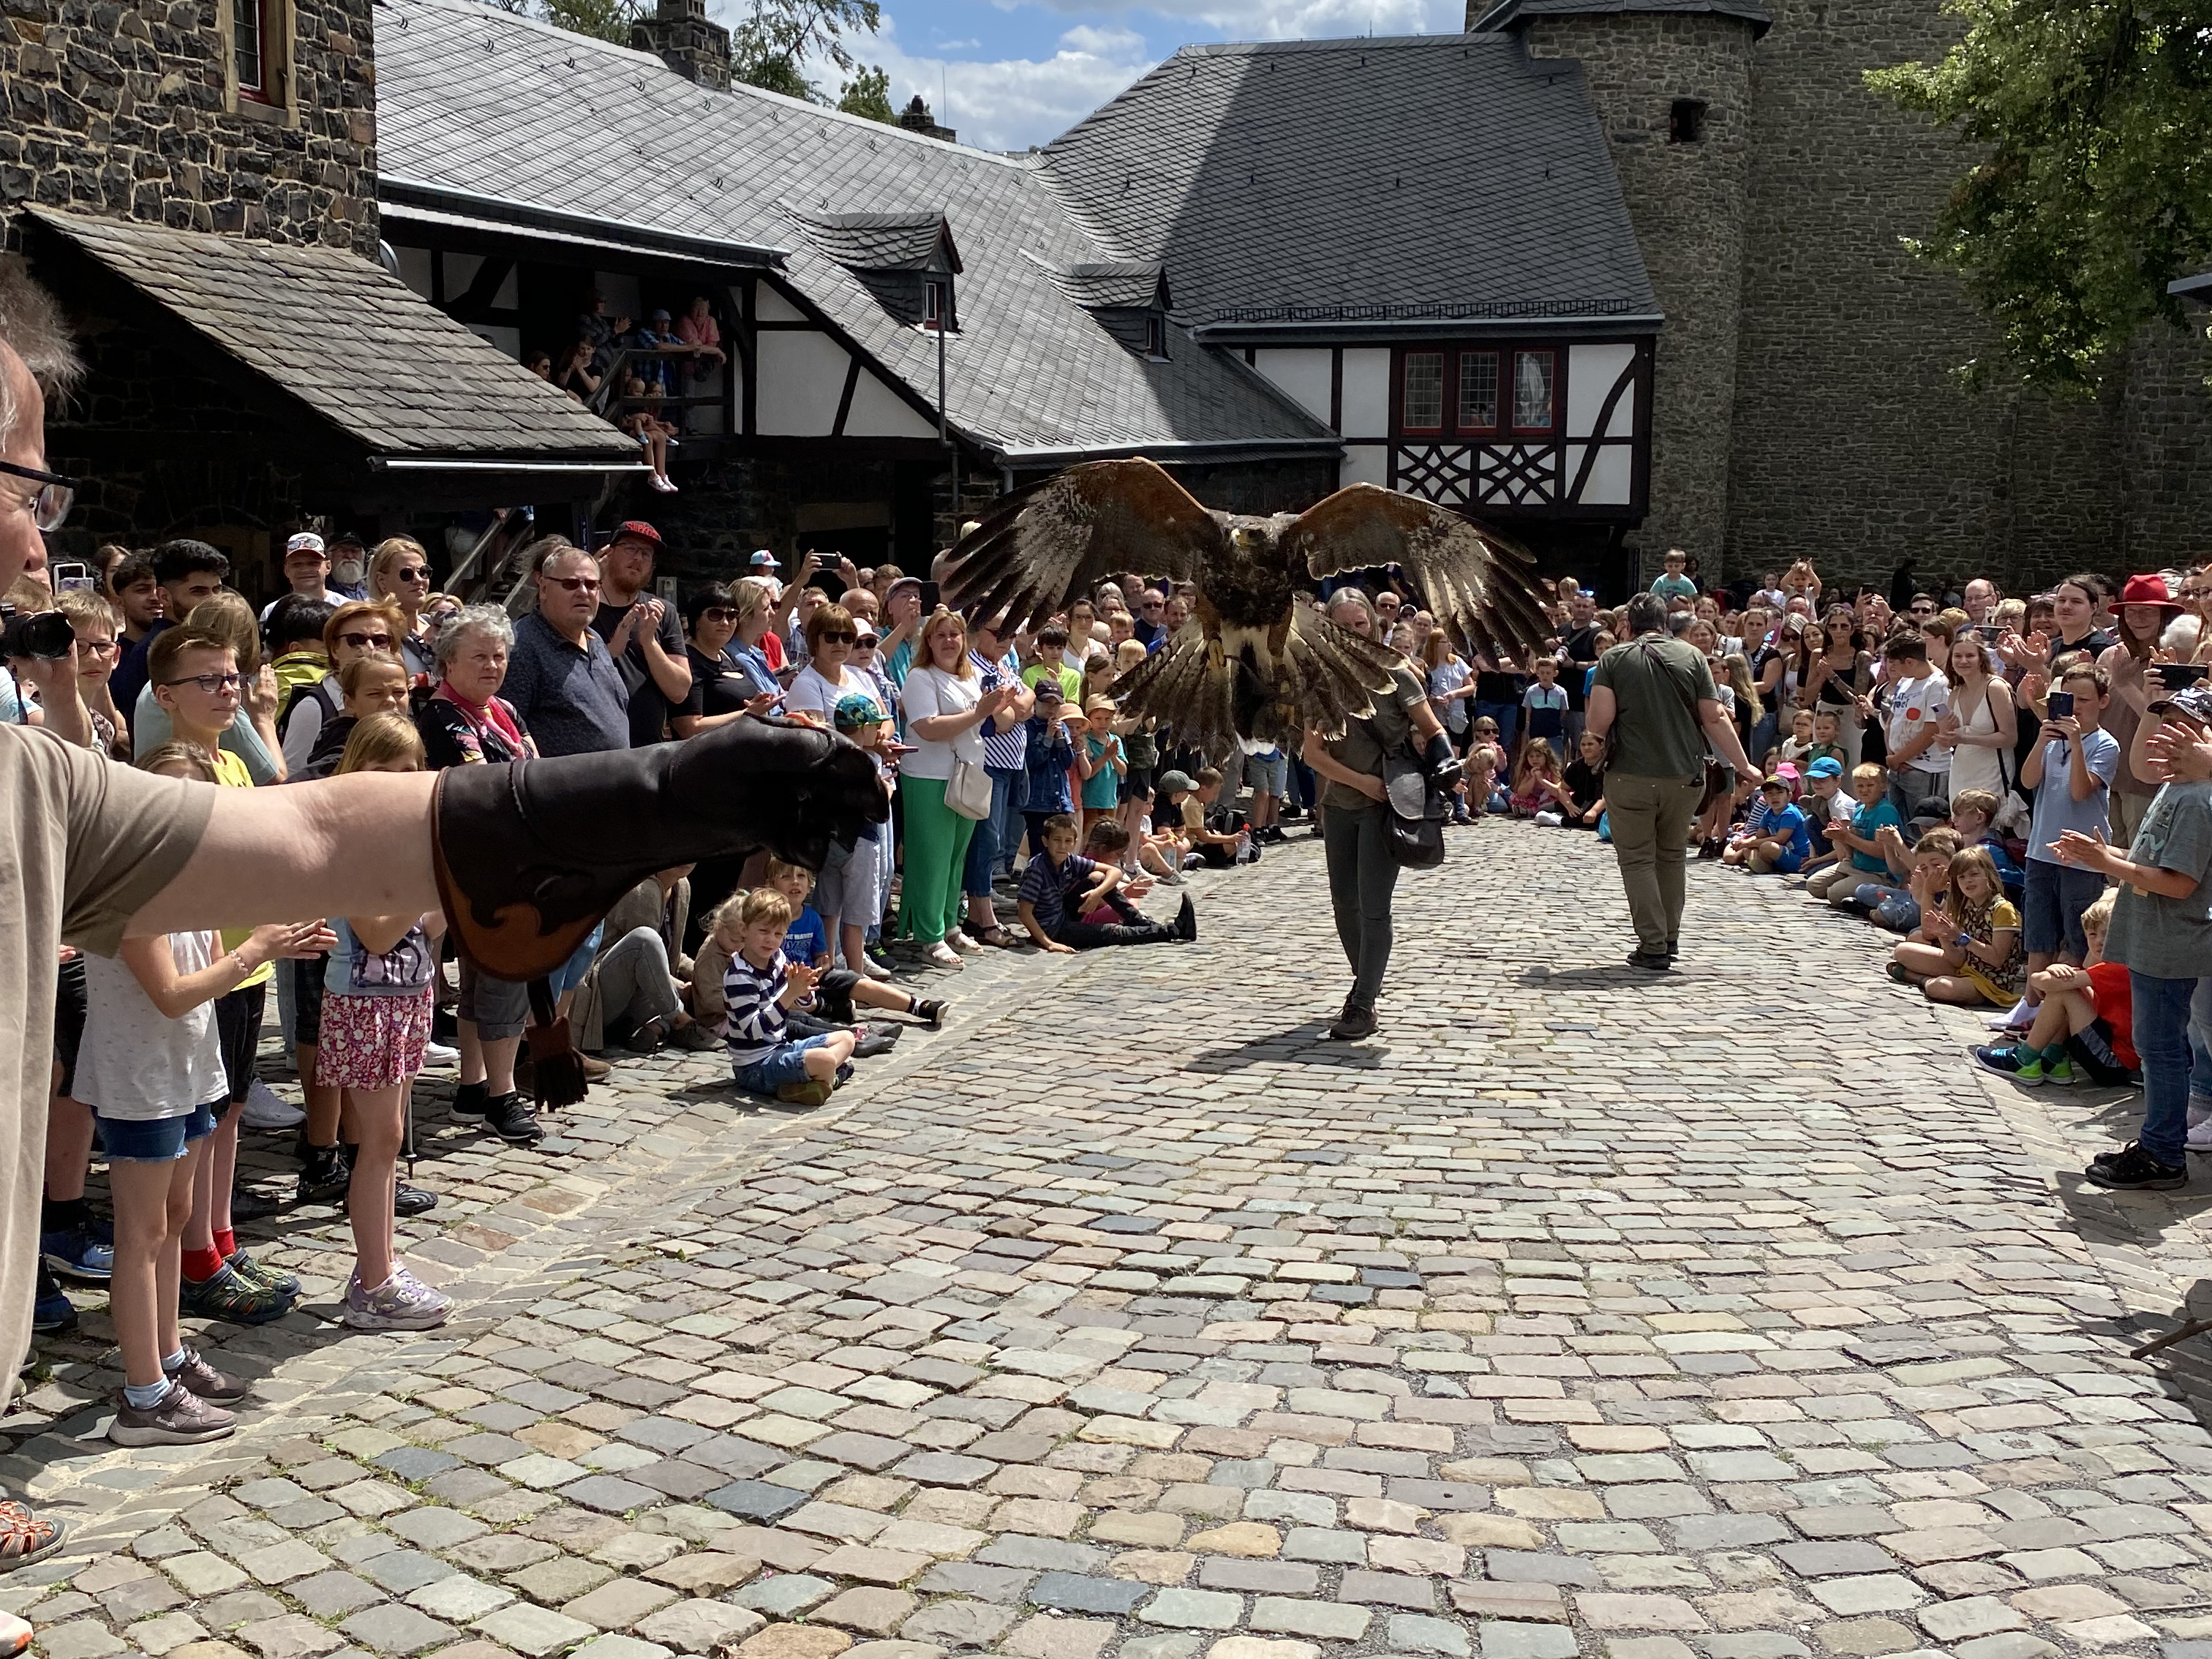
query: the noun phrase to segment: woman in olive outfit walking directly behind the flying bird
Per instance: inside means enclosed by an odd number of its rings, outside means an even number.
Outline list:
[[[1338,628],[1376,637],[1374,606],[1358,588],[1336,593],[1327,613]],[[1321,845],[1329,865],[1336,938],[1352,964],[1352,995],[1329,1026],[1340,1042],[1374,1035],[1376,995],[1389,967],[1389,900],[1398,887],[1398,860],[1389,845],[1383,757],[1394,750],[1418,752],[1431,765],[1453,763],[1451,739],[1411,664],[1391,672],[1391,690],[1376,692],[1374,712],[1347,721],[1343,737],[1305,734],[1305,763],[1321,779]]]

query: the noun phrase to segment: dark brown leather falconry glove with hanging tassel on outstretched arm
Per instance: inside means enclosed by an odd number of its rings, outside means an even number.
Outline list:
[[[456,949],[529,982],[540,1104],[584,1097],[546,978],[646,876],[768,847],[821,869],[832,841],[891,816],[876,763],[816,726],[745,717],[684,743],[451,765],[431,803],[431,867]]]

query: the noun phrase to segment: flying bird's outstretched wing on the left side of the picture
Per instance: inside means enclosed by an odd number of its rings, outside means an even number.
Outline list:
[[[1150,460],[1086,460],[1015,491],[945,555],[945,602],[1040,624],[1108,575],[1206,582],[1225,546],[1212,513]]]

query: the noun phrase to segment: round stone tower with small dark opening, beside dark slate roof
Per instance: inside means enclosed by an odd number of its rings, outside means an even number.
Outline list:
[[[1719,571],[1739,376],[1752,31],[1734,18],[1537,18],[1533,58],[1582,64],[1621,177],[1666,327],[1652,356],[1652,495],[1630,542],[1686,546]],[[1668,142],[1677,97],[1705,104],[1703,137]]]

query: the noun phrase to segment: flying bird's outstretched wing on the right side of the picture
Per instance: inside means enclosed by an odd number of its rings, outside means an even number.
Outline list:
[[[1491,657],[1542,655],[1553,635],[1535,595],[1535,560],[1498,531],[1433,502],[1349,484],[1307,507],[1283,533],[1314,580],[1400,566],[1436,619]]]

